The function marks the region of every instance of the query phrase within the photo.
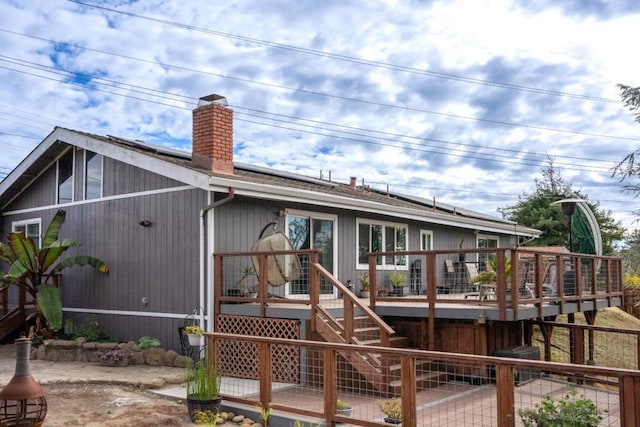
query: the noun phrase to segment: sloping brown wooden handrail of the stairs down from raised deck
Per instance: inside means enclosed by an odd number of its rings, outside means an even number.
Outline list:
[[[310,268],[312,270],[312,276],[317,277],[317,287],[320,286],[320,276],[324,277],[334,288],[338,291],[342,292],[342,303],[343,303],[343,316],[344,316],[344,326],[341,327],[343,332],[343,337],[345,342],[353,343],[354,338],[354,328],[353,328],[353,313],[355,312],[355,308],[357,307],[362,311],[362,314],[368,317],[380,330],[380,345],[383,347],[390,346],[390,337],[395,335],[395,331],[384,321],[380,316],[378,316],[369,306],[364,304],[360,299],[356,296],[356,294],[351,291],[347,286],[345,286],[342,282],[337,280],[327,269],[325,269],[320,263],[312,262],[310,263]],[[312,280],[313,281],[313,280]],[[314,293],[315,294],[315,293]],[[317,293],[319,295],[319,292]],[[331,322],[335,325],[340,326],[340,323],[336,318],[334,318],[328,310],[325,310],[320,306],[319,297],[311,298],[311,310],[312,310],[312,328],[315,330],[315,319],[318,313],[322,313],[325,317],[330,318]]]

